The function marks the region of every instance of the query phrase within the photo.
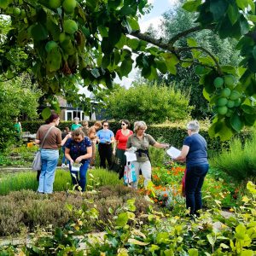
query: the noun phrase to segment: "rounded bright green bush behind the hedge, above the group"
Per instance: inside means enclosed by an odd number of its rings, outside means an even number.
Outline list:
[[[191,110],[187,96],[180,91],[147,84],[115,90],[106,97],[106,102],[106,109],[113,119],[142,119],[148,124],[161,123],[166,119],[187,119]]]

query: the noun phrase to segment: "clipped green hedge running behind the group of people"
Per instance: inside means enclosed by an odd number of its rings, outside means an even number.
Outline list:
[[[93,125],[94,122],[89,122],[89,125]],[[23,131],[30,131],[30,133],[36,133],[40,125],[44,125],[43,121],[24,121],[22,122]],[[61,131],[64,130],[66,126],[71,127],[71,121],[61,121],[58,128]],[[207,132],[207,124],[201,123],[201,135],[206,138],[208,144],[208,150],[210,154],[218,153],[223,148],[229,148],[229,142],[220,142],[218,138],[210,138]],[[119,122],[109,122],[109,129],[115,132],[120,129]],[[133,127],[131,127],[133,129]],[[147,133],[153,136],[155,139],[164,141],[173,145],[176,148],[182,148],[184,137],[188,136],[186,126],[184,123],[172,123],[170,125],[148,125]],[[250,131],[242,131],[236,137],[241,138],[241,142],[244,142],[247,137],[250,137]]]

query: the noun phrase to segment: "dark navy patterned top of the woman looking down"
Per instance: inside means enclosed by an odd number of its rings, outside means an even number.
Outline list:
[[[76,160],[79,156],[87,154],[87,148],[91,147],[91,143],[89,137],[84,137],[80,143],[75,142],[73,138],[69,138],[65,147],[70,149],[69,154],[71,158]],[[81,160],[81,163],[84,164],[86,161],[90,161],[90,159],[83,159]]]

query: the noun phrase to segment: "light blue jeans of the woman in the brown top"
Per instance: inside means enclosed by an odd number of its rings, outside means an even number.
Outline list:
[[[55,181],[55,169],[59,160],[59,150],[41,149],[42,169],[39,177],[38,192],[51,194]]]

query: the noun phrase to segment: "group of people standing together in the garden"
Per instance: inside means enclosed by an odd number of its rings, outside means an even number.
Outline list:
[[[79,119],[74,119],[71,131],[66,128],[65,137],[61,138],[61,131],[56,128],[60,118],[53,113],[48,124],[40,126],[35,143],[41,145],[42,170],[39,177],[39,193],[51,194],[55,177],[55,168],[59,159],[59,147],[62,146],[65,158],[71,172],[73,184],[78,184],[82,191],[86,186],[86,173],[89,166],[94,166],[96,155],[96,144],[100,156],[100,167],[111,169],[113,155],[118,159],[120,170],[124,170],[126,164],[125,151],[129,148],[136,148],[137,160],[133,161],[137,181],[139,173],[142,172],[144,186],[147,187],[151,180],[151,163],[148,154],[149,146],[155,148],[169,148],[169,144],[158,143],[154,137],[145,133],[147,125],[144,121],[134,123],[134,129],[129,129],[130,123],[127,119],[121,120],[121,127],[116,132],[109,129],[108,121],[96,122],[88,127],[88,122],[79,124]],[[102,128],[102,129],[101,129]],[[49,130],[50,129],[50,130]],[[185,195],[186,205],[190,208],[191,214],[197,214],[202,207],[201,187],[208,172],[207,143],[198,133],[199,123],[191,121],[188,124],[188,137],[183,142],[181,154],[177,161],[186,161]],[[113,146],[112,146],[113,144]],[[64,158],[64,160],[65,160]],[[63,160],[62,160],[63,163]],[[73,171],[73,163],[79,163],[79,172]],[[119,173],[122,177],[123,173]],[[131,183],[131,187],[137,189],[137,182]]]

